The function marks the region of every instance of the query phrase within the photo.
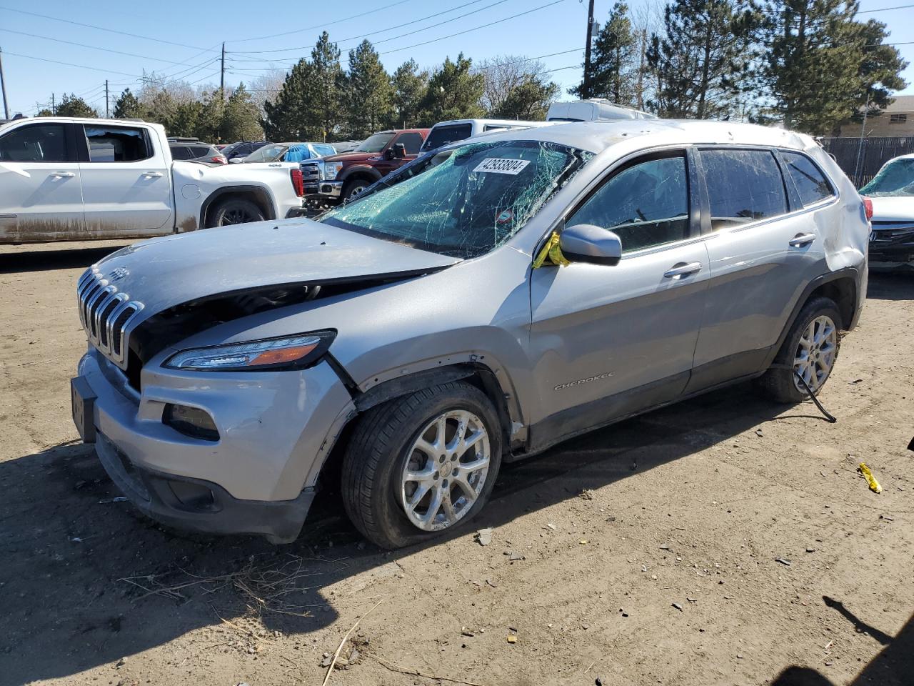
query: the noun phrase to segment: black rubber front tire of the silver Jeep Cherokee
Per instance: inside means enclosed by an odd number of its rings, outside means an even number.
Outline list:
[[[438,444],[438,421],[448,413],[467,420],[458,423],[462,420],[445,419],[445,441],[449,445],[457,445],[454,438],[460,426],[466,427],[464,435],[475,437],[483,428],[486,435],[456,457],[445,448],[446,456],[443,461],[439,456],[436,463],[416,444],[425,440],[423,445],[429,448],[434,447],[432,443]],[[464,381],[452,381],[385,402],[368,410],[357,421],[343,457],[341,491],[349,519],[369,541],[387,549],[430,541],[463,526],[483,509],[502,459],[498,414],[483,391]],[[473,434],[467,431],[470,428]],[[458,448],[456,452],[461,450]],[[476,471],[461,468],[482,464],[481,454],[485,455],[486,451],[486,471],[482,467],[474,467]],[[409,481],[408,466],[412,470],[410,474],[423,475],[422,483]],[[425,477],[431,474],[429,470],[437,476]],[[476,489],[474,501],[465,497],[467,491],[462,483]],[[408,514],[405,501],[416,498],[423,484],[427,488],[422,492],[427,495],[416,499]],[[446,498],[445,492],[452,493],[452,497]],[[429,517],[439,493],[440,504]],[[456,518],[450,522],[446,521],[445,498],[452,503],[451,514]],[[418,523],[423,508],[429,522],[424,529]]]

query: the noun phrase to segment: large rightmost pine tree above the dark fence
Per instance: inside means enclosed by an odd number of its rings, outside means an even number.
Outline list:
[[[904,88],[907,65],[883,45],[885,25],[855,20],[856,2],[769,0],[760,27],[762,79],[786,128],[829,134],[865,105]]]

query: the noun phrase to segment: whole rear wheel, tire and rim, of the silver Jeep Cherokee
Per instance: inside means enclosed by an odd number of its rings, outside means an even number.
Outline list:
[[[838,357],[841,324],[841,313],[833,300],[817,297],[804,305],[771,369],[759,380],[762,391],[777,402],[802,402],[809,393],[796,377],[795,372],[799,372],[818,395]]]

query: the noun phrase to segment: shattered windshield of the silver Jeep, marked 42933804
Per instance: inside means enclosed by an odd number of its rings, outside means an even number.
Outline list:
[[[513,236],[589,153],[533,141],[473,143],[428,155],[319,221],[454,257]]]

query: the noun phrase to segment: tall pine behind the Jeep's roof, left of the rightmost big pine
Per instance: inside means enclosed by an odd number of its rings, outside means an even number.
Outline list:
[[[739,0],[738,0],[739,1]],[[647,61],[657,78],[652,108],[664,117],[731,113],[749,72],[754,15],[731,0],[675,0],[664,9]]]

